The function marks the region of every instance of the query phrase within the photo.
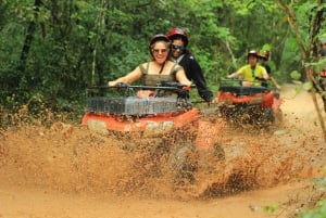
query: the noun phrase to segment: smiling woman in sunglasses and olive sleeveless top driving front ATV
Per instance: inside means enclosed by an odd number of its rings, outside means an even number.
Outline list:
[[[190,88],[191,81],[188,80],[184,68],[170,60],[170,39],[165,35],[153,36],[149,42],[152,60],[138,65],[126,76],[109,81],[109,87],[117,84],[133,84],[143,78],[145,86],[156,86],[161,81],[178,81]]]

